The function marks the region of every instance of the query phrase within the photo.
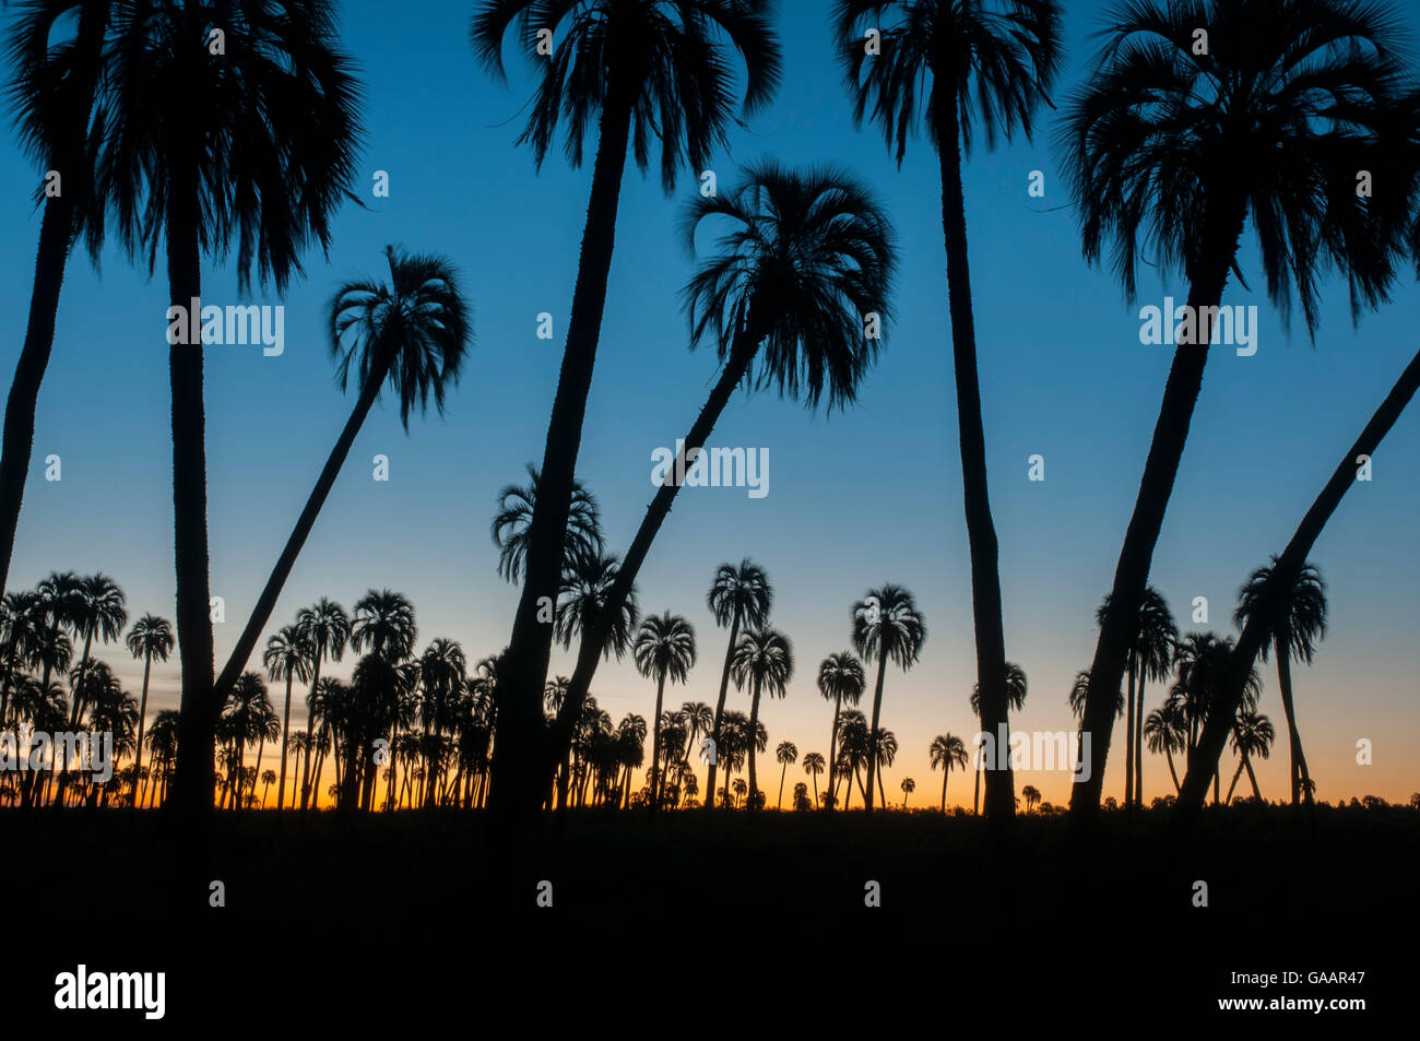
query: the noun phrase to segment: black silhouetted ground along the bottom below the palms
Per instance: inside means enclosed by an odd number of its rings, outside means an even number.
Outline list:
[[[1367,1013],[1316,1018],[1369,1018],[1411,987],[1420,814],[1323,808],[1312,839],[1285,810],[1242,807],[1177,844],[1153,812],[1132,828],[1106,814],[1076,842],[1059,817],[997,841],[984,821],[932,812],[574,811],[510,844],[467,812],[256,812],[217,814],[209,859],[190,846],[155,814],[0,812],[0,934],[23,952],[0,973],[0,1014],[53,1013],[55,973],[82,961],[166,971],[166,1027],[420,1023],[454,1004],[575,1025],[622,996],[694,1020],[744,987],[795,1015],[866,990],[1078,1027],[1086,1011],[1218,1017],[1217,998],[1255,994],[1367,997]],[[1231,983],[1288,970],[1366,980]]]

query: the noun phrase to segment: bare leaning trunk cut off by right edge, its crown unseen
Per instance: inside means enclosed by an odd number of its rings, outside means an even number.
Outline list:
[[[1326,527],[1332,514],[1336,513],[1336,507],[1340,506],[1346,490],[1355,483],[1356,457],[1375,453],[1382,439],[1384,439],[1390,427],[1400,418],[1400,413],[1410,403],[1410,399],[1414,398],[1417,389],[1420,389],[1420,352],[1406,365],[1396,385],[1390,388],[1390,393],[1386,395],[1386,399],[1372,415],[1370,422],[1366,423],[1360,436],[1350,446],[1350,450],[1342,456],[1340,463],[1332,472],[1331,480],[1326,481],[1326,486],[1312,503],[1306,516],[1302,517],[1302,523],[1296,527],[1282,555],[1272,565],[1271,578],[1262,591],[1264,599],[1271,601],[1272,598],[1284,596],[1285,591],[1296,581],[1296,575],[1306,562],[1306,557],[1316,544],[1316,538]],[[1267,638],[1267,625],[1264,622],[1267,614],[1267,611],[1257,612],[1242,626],[1242,632],[1238,636],[1237,648],[1233,650],[1230,659],[1231,667],[1227,686],[1223,690],[1221,712],[1210,713],[1203,727],[1201,747],[1198,748],[1196,761],[1189,765],[1189,773],[1183,778],[1183,790],[1179,792],[1179,807],[1174,814],[1174,827],[1179,831],[1191,828],[1197,821],[1198,810],[1203,805],[1203,794],[1208,783],[1208,764],[1213,764],[1216,768],[1223,754],[1223,746],[1227,743],[1228,724],[1221,723],[1221,720],[1231,720],[1237,714],[1238,704],[1242,702],[1242,689],[1247,685],[1248,673],[1252,670],[1252,663],[1257,660],[1262,641]],[[1309,798],[1308,807],[1311,807]]]

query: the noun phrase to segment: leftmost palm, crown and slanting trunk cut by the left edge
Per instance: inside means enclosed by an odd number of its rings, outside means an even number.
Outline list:
[[[94,156],[87,142],[92,141],[91,116],[104,74],[111,7],[94,0],[31,3],[11,27],[10,98],[21,142],[40,169],[58,170],[64,179],[60,193],[44,200],[24,347],[6,399],[0,445],[0,591],[10,575],[34,449],[34,413],[54,347],[54,320],[70,247],[87,233],[97,256],[102,240],[102,207],[95,205]],[[75,9],[78,20],[71,37],[67,24]]]

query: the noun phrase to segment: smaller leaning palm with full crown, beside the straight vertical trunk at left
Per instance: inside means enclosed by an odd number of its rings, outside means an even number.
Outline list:
[[[443,415],[444,395],[459,382],[473,327],[453,264],[444,257],[408,254],[393,246],[385,247],[385,261],[388,283],[346,283],[331,300],[329,348],[331,356],[339,359],[337,381],[344,391],[354,376],[359,396],[217,677],[219,697],[241,672],[270,621],[295,558],[385,385],[399,396],[399,419],[408,432],[409,413],[415,408],[425,412],[433,402],[435,410]]]

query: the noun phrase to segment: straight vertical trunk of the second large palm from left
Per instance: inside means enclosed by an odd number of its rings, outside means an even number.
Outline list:
[[[186,314],[202,295],[197,240],[196,165],[182,159],[172,170],[168,197],[169,298]],[[192,315],[189,315],[192,318]],[[178,723],[178,771],[169,801],[183,815],[207,817],[216,792],[210,588],[207,577],[207,452],[202,400],[202,342],[172,344],[173,558],[178,571],[178,653],[182,700]]]

